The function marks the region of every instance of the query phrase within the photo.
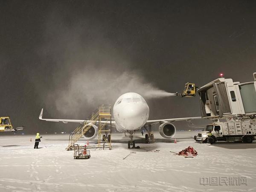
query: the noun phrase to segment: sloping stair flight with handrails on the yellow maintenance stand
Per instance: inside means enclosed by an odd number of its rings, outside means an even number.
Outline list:
[[[85,134],[96,121],[99,120],[99,109],[94,111],[84,122],[81,123],[69,136],[68,146],[66,148],[69,151],[73,145]]]

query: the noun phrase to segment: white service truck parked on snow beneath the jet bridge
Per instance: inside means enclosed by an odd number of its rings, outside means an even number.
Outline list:
[[[242,141],[244,143],[252,143],[256,139],[255,120],[248,121],[230,121],[230,122],[213,122],[207,125],[205,131],[198,133],[194,139],[203,142],[208,139],[209,132],[212,133],[213,143],[217,141]]]

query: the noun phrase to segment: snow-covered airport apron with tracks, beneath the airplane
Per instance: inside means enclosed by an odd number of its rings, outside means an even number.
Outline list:
[[[116,133],[112,150],[91,149],[87,160],[65,151],[68,134],[42,134],[39,149],[34,135],[1,134],[0,191],[256,191],[255,141],[200,144],[195,134],[177,132],[174,143],[155,133],[157,143],[144,144],[138,133],[140,149],[128,149],[128,138]],[[170,153],[189,145],[198,151],[195,158]]]

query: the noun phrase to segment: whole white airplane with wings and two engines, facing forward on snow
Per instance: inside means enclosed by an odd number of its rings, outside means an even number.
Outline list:
[[[113,106],[113,118],[112,121],[114,127],[117,131],[128,132],[130,134],[131,141],[128,142],[129,145],[135,147],[135,142],[133,141],[133,134],[135,131],[150,127],[154,124],[160,124],[159,132],[164,138],[172,138],[176,133],[176,128],[171,122],[191,120],[191,119],[201,119],[201,117],[186,117],[186,118],[173,118],[173,119],[157,119],[148,120],[149,107],[145,102],[145,99],[138,93],[125,93],[121,95],[115,102]],[[52,122],[84,122],[84,120],[75,119],[43,119],[43,109],[39,115],[39,119]],[[104,123],[104,122],[103,122]],[[93,125],[89,131],[84,134],[86,139],[94,139],[97,136],[98,127]]]

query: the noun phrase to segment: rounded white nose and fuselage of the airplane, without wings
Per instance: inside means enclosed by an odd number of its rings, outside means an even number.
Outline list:
[[[149,108],[138,93],[121,95],[113,106],[113,117],[117,131],[135,131],[148,120]]]

